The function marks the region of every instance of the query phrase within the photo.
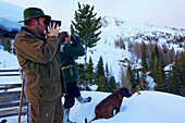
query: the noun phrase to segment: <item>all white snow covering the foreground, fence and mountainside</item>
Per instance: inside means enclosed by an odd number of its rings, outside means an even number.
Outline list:
[[[3,5],[1,5],[3,4]],[[9,7],[8,4],[4,4],[0,1],[1,7]],[[16,8],[16,7],[14,7]],[[3,9],[3,8],[1,8]],[[15,9],[17,12],[22,12],[22,9]],[[4,11],[4,10],[3,10]],[[17,13],[15,11],[9,11],[5,10],[8,13],[13,14],[7,14],[10,16],[14,16]],[[21,14],[18,14],[21,15]],[[1,17],[7,19],[8,16],[3,15],[2,11],[0,11],[0,20]],[[20,17],[18,17],[20,19]],[[120,49],[114,47],[114,40],[120,39],[120,37],[126,39],[131,38],[134,39],[134,37],[143,33],[148,36],[152,36],[152,32],[164,32],[170,33],[173,36],[175,35],[185,35],[184,32],[181,30],[174,30],[172,28],[159,28],[153,25],[149,24],[133,24],[125,21],[121,21],[122,23],[119,26],[115,26],[113,17],[108,16],[108,25],[104,28],[101,28],[101,39],[97,42],[97,46],[88,49],[87,52],[87,61],[91,57],[94,65],[96,66],[100,56],[102,56],[104,67],[106,63],[109,65],[109,70],[111,71],[112,75],[115,77],[116,82],[120,79],[120,73],[121,73],[121,66],[127,65],[127,62],[120,62],[120,60],[128,59],[131,60],[132,54],[127,50],[127,41],[125,41],[126,49]],[[1,21],[0,21],[1,23]],[[7,23],[5,23],[7,24]],[[4,24],[4,25],[5,25]],[[11,22],[12,24],[12,22]],[[12,26],[5,25],[8,28],[13,28]],[[18,25],[16,25],[17,27]],[[135,40],[136,41],[136,40]],[[141,39],[137,39],[138,42],[141,42]],[[159,40],[159,46],[162,44],[165,44],[165,40],[161,38]],[[185,44],[185,42],[184,42]],[[171,44],[170,48],[174,48],[175,51],[183,51],[184,49],[178,48],[177,46]],[[140,61],[140,60],[139,60]],[[77,60],[78,63],[84,63],[84,58],[79,58]],[[139,62],[140,63],[140,62]],[[135,64],[136,67],[140,67],[140,64]],[[170,64],[164,70],[171,69]],[[10,70],[10,69],[18,69],[18,62],[16,59],[16,56],[9,53],[7,51],[3,51],[3,48],[0,47],[0,70]],[[126,67],[124,67],[124,71]],[[152,89],[155,87],[153,78],[150,76],[147,76],[147,82],[149,82],[149,87]],[[0,77],[0,84],[21,84],[21,77],[20,76],[1,76]],[[91,102],[89,103],[79,103],[75,102],[75,106],[72,108],[71,111],[71,120],[76,121],[77,123],[84,123],[85,118],[87,118],[88,121],[94,119],[95,113],[95,107],[104,99],[110,93],[101,93],[101,91],[95,91],[97,86],[92,85],[90,86],[94,91],[82,91],[82,95],[84,97],[92,97]],[[21,88],[18,88],[20,90]],[[15,90],[15,89],[14,89]],[[16,89],[17,90],[17,89]],[[1,91],[0,91],[1,93]],[[64,100],[62,98],[62,100]],[[64,101],[63,101],[64,102]],[[0,109],[1,110],[1,109]],[[134,94],[131,98],[124,98],[123,103],[121,107],[121,111],[114,115],[111,119],[108,120],[97,120],[92,123],[185,123],[185,98],[168,93],[160,93],[160,91],[140,91],[140,95]],[[10,118],[3,118],[8,120],[8,123],[15,123],[17,121],[17,116],[10,116]],[[1,121],[2,119],[0,119]],[[26,116],[22,116],[22,122],[26,122]]]

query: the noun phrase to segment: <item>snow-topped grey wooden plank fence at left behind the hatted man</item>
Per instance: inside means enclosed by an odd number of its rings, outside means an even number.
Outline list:
[[[0,77],[1,76],[22,77],[22,72],[20,72],[20,70],[0,70]],[[18,116],[21,90],[11,89],[21,87],[22,84],[1,84],[0,82],[0,118]],[[30,123],[29,103],[27,103],[25,95],[23,96],[22,106],[21,115],[27,114],[27,123]]]

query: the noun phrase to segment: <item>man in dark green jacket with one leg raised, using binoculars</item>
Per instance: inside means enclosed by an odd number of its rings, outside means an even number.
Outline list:
[[[72,39],[73,38],[73,39]],[[75,63],[75,57],[85,54],[85,49],[79,41],[79,37],[70,36],[67,32],[62,32],[60,35],[59,52],[57,54],[61,66],[65,82],[65,102],[64,107],[64,123],[75,123],[69,120],[70,109],[74,106],[75,98],[81,102],[90,102],[91,97],[83,98],[77,87],[76,81],[78,77],[78,71]]]

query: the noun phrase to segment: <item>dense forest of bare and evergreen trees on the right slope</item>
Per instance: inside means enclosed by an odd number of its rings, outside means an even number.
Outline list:
[[[182,39],[182,38],[180,38]],[[182,39],[184,40],[184,39]],[[119,44],[119,46],[116,46]],[[123,39],[116,40],[115,46],[125,49]],[[132,53],[131,62],[128,62],[127,71],[122,73],[125,77],[124,83],[130,86],[132,91],[140,89],[151,89],[146,81],[147,76],[151,76],[155,82],[155,90],[172,93],[185,96],[185,53],[174,48],[169,49],[166,45],[159,47],[157,44],[130,42],[128,50]],[[141,61],[141,69],[135,69],[134,64]],[[173,64],[170,71],[164,67]]]

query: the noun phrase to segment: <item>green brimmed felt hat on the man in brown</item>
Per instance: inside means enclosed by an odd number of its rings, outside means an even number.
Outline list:
[[[44,11],[39,8],[27,8],[24,10],[24,20],[18,23],[36,19],[36,17],[46,17],[47,20],[51,20],[50,15],[45,15]]]

